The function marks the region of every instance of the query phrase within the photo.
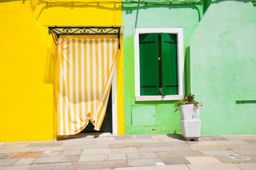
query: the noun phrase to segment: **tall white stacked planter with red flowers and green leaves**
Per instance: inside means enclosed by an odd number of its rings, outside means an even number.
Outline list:
[[[181,114],[181,133],[186,140],[198,140],[201,134],[201,120],[199,120],[199,107],[202,103],[195,101],[195,96],[189,94],[174,103],[176,111]]]

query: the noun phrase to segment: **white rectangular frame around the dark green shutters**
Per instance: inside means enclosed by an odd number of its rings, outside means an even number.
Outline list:
[[[177,35],[178,95],[141,96],[139,79],[139,35],[146,33],[172,33]],[[184,96],[183,28],[134,28],[135,101],[176,101]]]

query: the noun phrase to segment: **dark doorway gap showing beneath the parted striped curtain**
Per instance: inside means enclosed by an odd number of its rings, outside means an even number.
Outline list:
[[[81,131],[81,133],[85,132],[112,132],[112,90],[110,90],[110,97],[107,102],[107,111],[100,131],[94,130],[94,125],[89,121],[86,128]]]

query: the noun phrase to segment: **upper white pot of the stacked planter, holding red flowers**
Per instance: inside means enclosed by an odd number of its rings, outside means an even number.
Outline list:
[[[193,104],[181,105],[178,110],[183,120],[199,120],[199,108]]]

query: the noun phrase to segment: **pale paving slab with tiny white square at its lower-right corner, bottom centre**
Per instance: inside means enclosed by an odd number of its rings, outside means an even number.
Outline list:
[[[161,159],[128,159],[128,166],[155,166]]]

